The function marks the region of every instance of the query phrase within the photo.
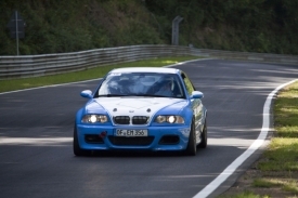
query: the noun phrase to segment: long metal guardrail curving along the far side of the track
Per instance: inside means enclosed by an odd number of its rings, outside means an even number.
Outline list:
[[[0,56],[0,80],[63,74],[155,57],[189,55],[298,65],[298,56],[294,55],[206,50],[178,45],[131,45],[60,54]]]

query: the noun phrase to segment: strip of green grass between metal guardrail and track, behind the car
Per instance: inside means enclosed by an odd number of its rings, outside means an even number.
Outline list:
[[[37,88],[43,85],[61,84],[67,82],[83,81],[90,79],[96,79],[104,77],[113,68],[120,67],[161,67],[166,65],[172,65],[180,62],[185,62],[190,60],[202,58],[198,56],[179,56],[179,57],[160,57],[145,61],[138,61],[131,63],[124,63],[117,65],[99,66],[92,69],[67,72],[54,76],[35,77],[35,78],[24,78],[24,79],[13,79],[13,80],[0,80],[0,92],[9,92],[14,90],[23,90],[29,88]]]

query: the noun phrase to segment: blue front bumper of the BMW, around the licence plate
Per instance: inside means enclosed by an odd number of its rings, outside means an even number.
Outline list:
[[[117,129],[145,129],[147,136],[116,136]],[[131,126],[91,126],[77,124],[80,148],[92,150],[183,150],[189,143],[191,128],[170,127],[131,127]]]

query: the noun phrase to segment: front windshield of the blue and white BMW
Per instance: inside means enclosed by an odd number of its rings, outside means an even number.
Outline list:
[[[155,72],[111,72],[95,95],[185,97],[177,75]]]

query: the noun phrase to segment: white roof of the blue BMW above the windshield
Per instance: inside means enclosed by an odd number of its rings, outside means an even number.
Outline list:
[[[179,74],[180,69],[168,67],[124,67],[116,68],[109,72],[160,72],[160,74]]]

